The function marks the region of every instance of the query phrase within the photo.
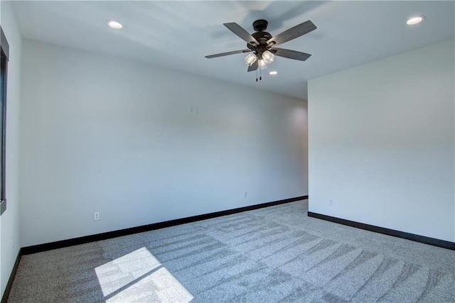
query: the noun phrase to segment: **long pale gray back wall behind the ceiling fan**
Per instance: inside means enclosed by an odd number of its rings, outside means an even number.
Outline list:
[[[22,72],[23,246],[308,193],[306,101],[33,40]]]

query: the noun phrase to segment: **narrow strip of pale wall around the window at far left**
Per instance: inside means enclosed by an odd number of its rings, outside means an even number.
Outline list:
[[[0,216],[0,292],[6,283],[19,250],[19,101],[21,84],[21,33],[11,2],[1,1],[1,28],[9,43],[8,88],[6,97],[6,199]]]

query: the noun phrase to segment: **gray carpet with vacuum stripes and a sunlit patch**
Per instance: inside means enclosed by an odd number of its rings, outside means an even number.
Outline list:
[[[306,200],[25,255],[8,302],[455,302],[455,251]]]

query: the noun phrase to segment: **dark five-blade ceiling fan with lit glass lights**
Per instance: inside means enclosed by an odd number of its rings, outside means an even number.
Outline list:
[[[210,59],[239,53],[250,53],[245,57],[245,63],[248,65],[247,71],[252,72],[258,68],[259,70],[267,68],[267,65],[273,62],[275,55],[301,61],[305,61],[311,56],[310,54],[297,52],[296,50],[275,48],[275,45],[285,43],[289,40],[298,38],[301,35],[314,31],[316,26],[313,22],[305,21],[304,23],[300,23],[293,28],[289,28],[287,31],[275,35],[274,37],[265,31],[268,24],[269,23],[264,19],[256,20],[253,22],[253,28],[256,32],[250,35],[250,33],[237,23],[223,23],[223,25],[232,31],[232,33],[235,33],[235,35],[238,35],[247,42],[247,49],[234,50],[232,52],[208,55],[205,57]]]

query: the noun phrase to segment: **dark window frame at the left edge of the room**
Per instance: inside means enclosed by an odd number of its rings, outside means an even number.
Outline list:
[[[6,211],[6,190],[5,190],[5,179],[6,179],[6,89],[8,87],[8,61],[9,61],[9,43],[6,40],[6,36],[3,32],[3,28],[0,26],[1,40],[0,40],[0,72],[1,75],[1,87],[0,87],[0,216]]]

